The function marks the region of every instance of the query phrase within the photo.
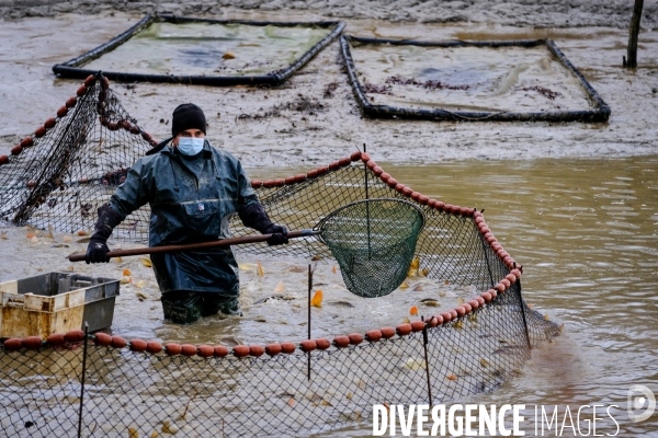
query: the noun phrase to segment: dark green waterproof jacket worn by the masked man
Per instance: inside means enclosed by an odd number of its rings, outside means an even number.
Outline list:
[[[240,162],[206,141],[195,157],[171,148],[144,157],[128,171],[110,199],[122,220],[150,205],[149,245],[206,242],[230,238],[230,218],[258,203]],[[162,293],[215,292],[238,298],[238,264],[230,249],[151,254]]]

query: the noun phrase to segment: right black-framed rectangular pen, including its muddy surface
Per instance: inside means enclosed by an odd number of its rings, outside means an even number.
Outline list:
[[[422,42],[343,35],[354,96],[373,117],[606,122],[610,106],[551,39]]]

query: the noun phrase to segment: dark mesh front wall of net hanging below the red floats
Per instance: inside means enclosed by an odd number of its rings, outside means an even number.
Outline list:
[[[530,358],[524,308],[511,288],[468,316],[428,327],[427,356],[422,332],[243,358],[134,351],[97,345],[93,336],[87,348],[3,347],[2,430],[72,437],[80,425],[84,437],[307,436],[370,425],[374,404],[428,404],[431,396],[436,405],[518,376]],[[525,312],[532,344],[557,334]]]

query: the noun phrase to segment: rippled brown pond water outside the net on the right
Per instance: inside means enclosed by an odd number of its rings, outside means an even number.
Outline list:
[[[521,378],[465,402],[525,403],[527,417],[535,404],[563,413],[566,405],[616,404],[619,436],[656,433],[658,413],[631,423],[625,410],[632,384],[658,392],[658,157],[381,165],[428,196],[484,208],[524,266],[526,302],[565,323],[555,343],[533,351]],[[615,433],[610,419],[600,426],[598,434]],[[371,434],[367,425],[327,436]]]

